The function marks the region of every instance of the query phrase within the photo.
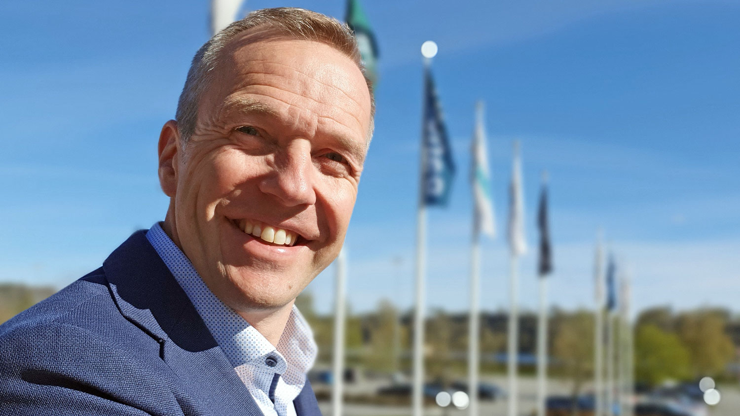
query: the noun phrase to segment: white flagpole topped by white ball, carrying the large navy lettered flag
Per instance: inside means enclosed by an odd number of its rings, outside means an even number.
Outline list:
[[[425,74],[430,70],[431,56],[424,56],[423,66]],[[422,117],[424,120],[424,117]],[[424,121],[422,122],[424,123]],[[422,126],[422,135],[424,126]],[[412,416],[423,416],[423,384],[424,384],[424,279],[425,279],[425,245],[426,245],[426,208],[424,202],[424,163],[426,160],[426,146],[424,137],[421,140],[419,161],[419,202],[417,207],[417,262],[416,262],[416,313],[414,314],[414,356],[413,356],[413,386],[411,392]]]

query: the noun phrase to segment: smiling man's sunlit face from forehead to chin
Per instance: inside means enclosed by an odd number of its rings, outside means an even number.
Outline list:
[[[226,304],[271,310],[339,253],[370,94],[357,65],[326,44],[242,37],[221,56],[195,133],[173,157],[172,233]]]

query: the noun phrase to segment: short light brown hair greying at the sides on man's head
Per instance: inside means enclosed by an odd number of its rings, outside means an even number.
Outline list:
[[[372,82],[360,60],[360,50],[357,48],[354,33],[346,24],[337,21],[335,18],[295,7],[255,10],[240,21],[229,24],[229,26],[213,35],[195,53],[187,73],[185,86],[180,94],[180,100],[178,100],[178,110],[175,113],[175,120],[178,121],[178,129],[183,142],[187,143],[195,132],[195,125],[198,123],[198,103],[203,97],[203,92],[206,91],[212,81],[213,72],[218,65],[221,51],[238,34],[255,27],[264,27],[270,33],[274,33],[273,36],[275,37],[295,38],[328,44],[357,64],[357,67],[365,76],[370,92],[370,129],[367,137],[369,143],[374,128],[375,98]]]

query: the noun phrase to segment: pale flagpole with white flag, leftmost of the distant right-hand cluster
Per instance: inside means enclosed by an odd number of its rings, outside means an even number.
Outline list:
[[[594,415],[602,416],[604,410],[603,358],[604,352],[604,253],[602,251],[602,232],[596,238],[596,259],[593,265],[593,280],[596,287],[596,322],[593,331],[593,396]]]

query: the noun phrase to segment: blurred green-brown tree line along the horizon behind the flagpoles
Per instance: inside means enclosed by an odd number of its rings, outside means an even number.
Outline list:
[[[52,287],[0,284],[0,323],[52,295]],[[310,293],[296,300],[309,321],[319,345],[318,362],[332,361],[334,319],[314,309]],[[346,313],[346,360],[371,372],[411,372],[413,314],[401,312],[389,301],[380,301],[373,313]],[[593,311],[553,308],[548,324],[549,374],[570,378],[573,394],[593,378]],[[482,313],[480,356],[482,372],[505,372],[505,311]],[[615,325],[619,338],[619,325]],[[519,321],[519,371],[534,373],[536,315],[523,312]],[[722,309],[674,312],[656,307],[639,314],[633,327],[635,380],[656,385],[668,380],[688,381],[706,375],[740,377],[727,373],[728,365],[740,368],[740,316]],[[615,348],[615,350],[619,350]],[[427,375],[442,383],[467,371],[468,314],[435,310],[425,323]]]

